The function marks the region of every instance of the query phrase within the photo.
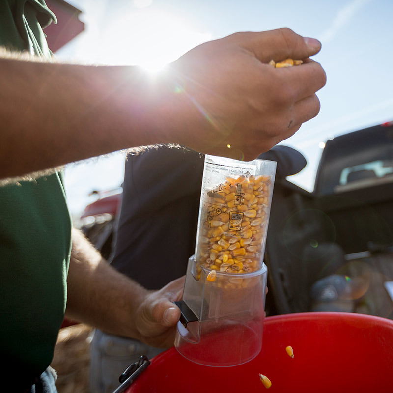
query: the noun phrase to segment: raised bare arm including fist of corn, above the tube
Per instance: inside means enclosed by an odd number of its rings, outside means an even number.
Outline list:
[[[0,178],[153,143],[256,158],[319,112],[315,92],[326,76],[307,60],[319,50],[289,29],[236,33],[194,48],[155,79],[138,67],[0,56]],[[267,65],[287,57],[306,61]]]

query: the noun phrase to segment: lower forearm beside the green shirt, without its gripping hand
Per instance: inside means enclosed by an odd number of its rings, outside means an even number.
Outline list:
[[[150,292],[113,269],[77,230],[72,244],[66,317],[140,339],[135,315]]]

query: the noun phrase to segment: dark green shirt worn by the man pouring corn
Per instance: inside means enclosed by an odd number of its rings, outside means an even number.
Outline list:
[[[50,56],[42,26],[53,18],[43,0],[0,0],[0,45]],[[0,187],[0,375],[21,387],[52,360],[70,248],[61,174]]]

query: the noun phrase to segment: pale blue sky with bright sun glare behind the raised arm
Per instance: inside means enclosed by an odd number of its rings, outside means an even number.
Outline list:
[[[282,142],[305,155],[307,167],[290,180],[309,191],[327,139],[393,120],[392,0],[68,1],[83,11],[86,29],[57,53],[60,59],[154,65],[236,31],[281,27],[319,39],[314,59],[327,73],[321,111]],[[119,154],[68,167],[71,212],[91,201],[92,189],[116,187],[122,176]]]

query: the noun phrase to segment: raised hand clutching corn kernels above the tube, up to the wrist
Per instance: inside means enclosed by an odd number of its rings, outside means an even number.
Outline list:
[[[316,116],[315,92],[326,83],[315,39],[288,28],[236,33],[207,42],[171,64],[177,98],[164,125],[181,124],[178,141],[207,154],[251,160]],[[303,60],[273,68],[270,60]],[[172,140],[173,141],[173,140]]]

